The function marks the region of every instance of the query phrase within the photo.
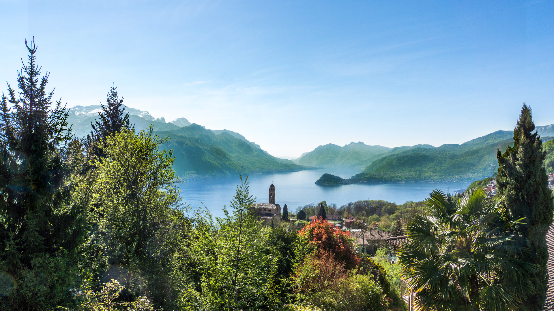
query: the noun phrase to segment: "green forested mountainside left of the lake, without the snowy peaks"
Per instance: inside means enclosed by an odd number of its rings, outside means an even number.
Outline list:
[[[216,134],[197,124],[157,134],[171,137],[162,146],[173,149],[173,169],[180,177],[224,177],[302,169],[290,160],[273,157],[246,139],[228,132]]]

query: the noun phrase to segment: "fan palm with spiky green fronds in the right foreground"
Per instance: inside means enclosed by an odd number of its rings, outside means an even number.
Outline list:
[[[406,226],[410,243],[398,251],[408,288],[421,311],[513,310],[535,292],[536,265],[518,258],[522,247],[503,197],[474,188],[461,198],[438,189],[428,212]]]

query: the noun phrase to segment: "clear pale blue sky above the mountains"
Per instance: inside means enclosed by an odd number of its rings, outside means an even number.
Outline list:
[[[554,123],[554,1],[2,1],[0,80],[24,39],[68,106],[239,132],[276,156],[463,143]],[[5,87],[4,87],[5,89]]]

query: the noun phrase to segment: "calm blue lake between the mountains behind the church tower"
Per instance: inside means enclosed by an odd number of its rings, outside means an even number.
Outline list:
[[[275,201],[281,206],[285,203],[290,211],[298,206],[309,203],[335,203],[337,206],[357,200],[387,200],[397,204],[406,201],[420,201],[429,193],[439,188],[453,193],[465,189],[470,183],[396,183],[396,184],[353,184],[339,186],[319,186],[314,184],[324,173],[350,178],[360,173],[357,169],[326,168],[316,170],[302,170],[294,173],[253,174],[248,177],[250,194],[257,198],[257,202],[268,203],[269,185],[275,185]],[[238,178],[186,180],[181,184],[183,201],[194,207],[204,203],[214,216],[223,216],[223,205],[229,206],[233,198]]]

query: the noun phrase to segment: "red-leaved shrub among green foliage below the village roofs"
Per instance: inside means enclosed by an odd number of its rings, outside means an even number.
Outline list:
[[[350,232],[338,229],[326,219],[312,221],[298,234],[316,248],[317,256],[331,253],[337,261],[344,263],[346,269],[355,268],[360,263]]]

